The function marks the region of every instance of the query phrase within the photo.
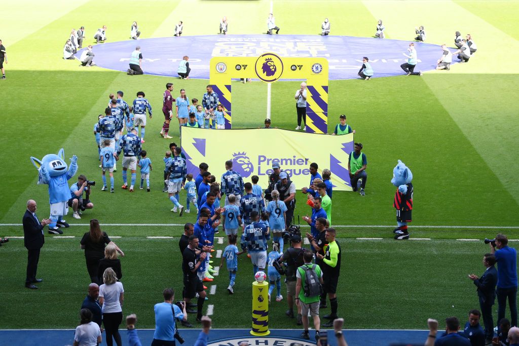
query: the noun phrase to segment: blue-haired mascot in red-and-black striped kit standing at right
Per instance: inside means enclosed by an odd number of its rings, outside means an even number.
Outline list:
[[[394,239],[409,239],[407,223],[411,222],[411,212],[413,211],[413,173],[403,163],[398,160],[397,167],[393,169],[391,184],[397,187],[394,194],[393,207],[397,210],[397,225],[393,230]]]

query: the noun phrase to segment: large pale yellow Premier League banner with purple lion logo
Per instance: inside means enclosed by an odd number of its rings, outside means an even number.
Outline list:
[[[209,164],[209,172],[220,182],[225,161],[233,161],[233,170],[244,182],[253,175],[258,184],[268,186],[272,164],[279,163],[298,190],[310,185],[310,163],[332,172],[335,191],[351,191],[348,158],[353,151],[353,133],[323,135],[282,129],[212,130],[182,127],[182,151],[187,172],[196,177],[201,162]]]

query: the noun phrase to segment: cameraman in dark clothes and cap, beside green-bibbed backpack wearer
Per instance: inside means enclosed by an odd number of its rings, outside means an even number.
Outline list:
[[[292,319],[294,318],[294,298],[295,297],[295,286],[297,282],[296,271],[297,268],[305,264],[303,254],[308,249],[301,247],[301,234],[294,234],[291,239],[291,247],[289,247],[282,255],[278,258],[278,262],[286,261],[286,301],[288,302],[289,309],[286,310],[285,314]],[[297,325],[303,324],[303,316],[301,315],[301,305],[299,300],[296,300],[297,307]]]

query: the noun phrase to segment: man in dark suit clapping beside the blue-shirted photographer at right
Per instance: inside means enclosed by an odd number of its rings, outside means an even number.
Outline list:
[[[477,286],[477,296],[480,299],[481,314],[483,315],[483,324],[485,325],[485,344],[491,344],[494,337],[494,320],[492,318],[492,306],[496,299],[497,269],[496,257],[493,254],[485,254],[483,256],[483,265],[486,270],[478,278],[474,274],[470,274],[469,278]]]

